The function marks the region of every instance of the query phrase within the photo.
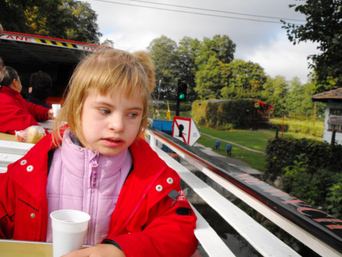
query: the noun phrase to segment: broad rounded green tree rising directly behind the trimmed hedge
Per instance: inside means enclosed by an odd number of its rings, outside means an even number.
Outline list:
[[[222,88],[224,98],[259,98],[266,75],[259,64],[234,60],[225,64],[226,73],[225,86]]]

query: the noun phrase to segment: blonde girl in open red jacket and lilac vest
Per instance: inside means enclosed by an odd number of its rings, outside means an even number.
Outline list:
[[[0,237],[51,242],[50,213],[74,209],[92,217],[94,246],[68,257],[191,256],[196,217],[179,175],[140,138],[154,86],[145,52],[82,60],[55,132],[0,174]]]

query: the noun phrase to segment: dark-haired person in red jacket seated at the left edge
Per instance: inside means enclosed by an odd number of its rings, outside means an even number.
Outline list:
[[[21,80],[10,66],[0,68],[0,132],[15,134],[37,121],[53,119],[53,110],[27,103],[21,96]]]

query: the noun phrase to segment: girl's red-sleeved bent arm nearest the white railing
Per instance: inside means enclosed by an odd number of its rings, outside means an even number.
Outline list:
[[[107,239],[120,245],[126,257],[177,256],[194,254],[198,241],[194,235],[196,215],[181,193],[175,199],[168,195],[148,210],[149,217],[144,230]]]

